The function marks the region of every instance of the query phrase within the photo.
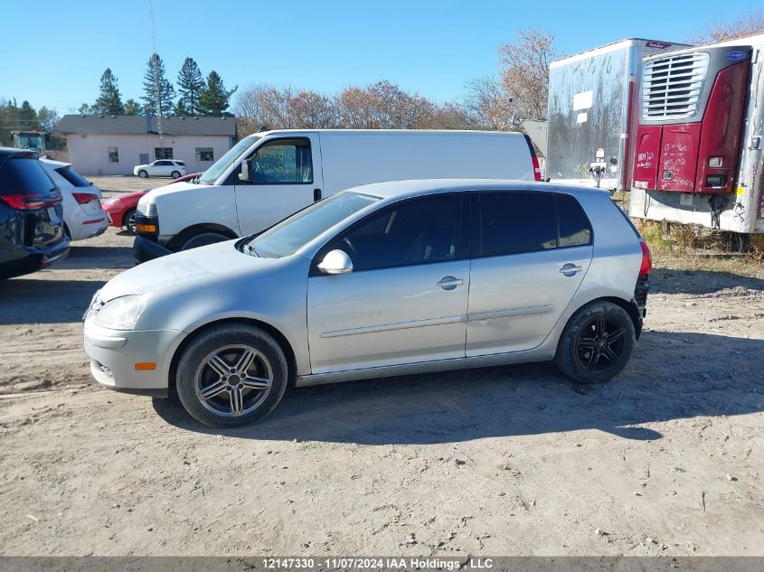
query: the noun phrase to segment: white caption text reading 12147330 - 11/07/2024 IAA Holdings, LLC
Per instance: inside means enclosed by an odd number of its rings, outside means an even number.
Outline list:
[[[270,570],[284,569],[398,569],[398,570],[486,570],[494,567],[492,558],[263,558],[262,565]]]

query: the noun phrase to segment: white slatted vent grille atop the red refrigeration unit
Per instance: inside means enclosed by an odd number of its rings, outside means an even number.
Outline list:
[[[698,110],[708,71],[705,52],[683,53],[646,62],[642,76],[642,119],[686,119]]]

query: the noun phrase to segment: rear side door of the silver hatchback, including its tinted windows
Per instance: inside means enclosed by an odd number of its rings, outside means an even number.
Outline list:
[[[569,194],[473,198],[467,357],[541,344],[589,269],[591,226]]]

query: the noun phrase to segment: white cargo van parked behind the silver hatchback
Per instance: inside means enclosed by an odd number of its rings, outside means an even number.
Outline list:
[[[193,183],[138,202],[138,262],[246,236],[311,202],[367,183],[406,179],[541,179],[519,133],[278,130],[247,136]]]

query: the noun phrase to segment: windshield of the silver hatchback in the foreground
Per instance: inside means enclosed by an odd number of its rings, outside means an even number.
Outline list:
[[[379,200],[368,194],[339,192],[325,201],[314,202],[250,240],[250,253],[263,258],[294,254],[337,222]]]

